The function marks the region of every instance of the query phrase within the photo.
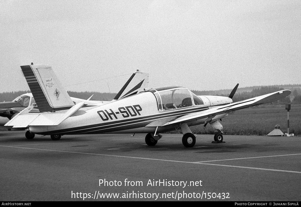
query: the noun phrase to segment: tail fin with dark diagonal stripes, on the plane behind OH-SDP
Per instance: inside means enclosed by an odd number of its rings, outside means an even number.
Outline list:
[[[143,91],[144,88],[147,88],[148,83],[148,73],[141,72],[137,70],[129,80],[124,84],[120,89],[113,100],[118,100],[124,97],[128,97],[134,94],[138,94]]]

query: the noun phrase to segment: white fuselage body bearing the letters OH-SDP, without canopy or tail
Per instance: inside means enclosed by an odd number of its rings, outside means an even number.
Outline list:
[[[207,110],[231,103],[228,97],[199,96],[204,104],[160,110],[157,98],[151,91],[142,92],[91,109],[79,110],[57,126],[29,126],[35,134],[104,134],[104,133],[154,133],[177,129],[179,124],[160,126],[180,116]],[[214,117],[210,121],[224,118],[228,114]],[[188,126],[205,123],[199,119]],[[157,128],[158,126],[158,128]]]

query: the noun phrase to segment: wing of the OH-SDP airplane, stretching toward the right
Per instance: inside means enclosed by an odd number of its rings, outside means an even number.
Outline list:
[[[185,116],[181,116],[177,119],[167,122],[163,126],[191,122],[191,121],[196,121],[198,119],[205,119],[205,118],[212,119],[214,116],[219,115],[219,114],[230,113],[235,110],[244,109],[244,108],[251,107],[251,106],[257,106],[262,103],[270,103],[273,101],[277,101],[277,100],[287,97],[290,93],[291,93],[290,90],[282,90],[282,91],[277,91],[274,93],[250,98],[247,100],[238,101],[235,103],[229,103],[227,105],[215,107],[215,108],[208,109],[208,110],[205,110],[202,112],[196,112],[196,113],[191,113],[191,114],[188,114]]]

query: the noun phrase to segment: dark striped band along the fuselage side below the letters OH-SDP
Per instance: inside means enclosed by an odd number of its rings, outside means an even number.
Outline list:
[[[94,124],[94,125],[87,125],[87,126],[81,126],[81,127],[74,127],[74,128],[42,132],[39,134],[43,134],[43,135],[47,135],[47,134],[81,134],[81,133],[87,133],[89,131],[100,131],[100,130],[104,130],[107,128],[116,128],[116,127],[120,127],[123,125],[137,124],[139,122],[153,122],[156,119],[168,118],[168,117],[173,117],[173,116],[184,116],[184,115],[187,115],[190,113],[207,110],[208,108],[209,107],[191,108],[191,109],[182,110],[182,111],[159,113],[159,114],[155,114],[155,115],[143,116],[143,117],[138,117],[138,118],[117,120],[117,121],[107,122],[107,123],[100,123],[100,124]],[[146,125],[144,124],[143,126],[146,126]],[[136,128],[136,127],[134,127],[134,128]],[[110,131],[119,131],[119,129],[110,130]],[[102,132],[99,132],[99,133],[102,133]],[[95,133],[95,134],[97,134],[97,133]]]

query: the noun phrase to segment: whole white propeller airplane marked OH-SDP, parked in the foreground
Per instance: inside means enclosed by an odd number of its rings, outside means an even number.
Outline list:
[[[190,126],[209,123],[218,131],[214,140],[222,141],[220,119],[235,110],[277,101],[291,93],[281,90],[232,103],[238,85],[229,97],[197,96],[187,88],[165,86],[124,95],[101,106],[83,107],[84,102],[74,104],[64,92],[50,66],[26,65],[21,69],[40,113],[29,113],[33,108],[29,106],[5,126],[28,128],[28,139],[34,134],[58,140],[64,134],[147,133],[146,144],[154,146],[162,137],[158,133],[182,129],[183,145],[193,147],[196,138]]]

